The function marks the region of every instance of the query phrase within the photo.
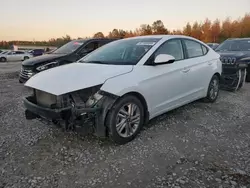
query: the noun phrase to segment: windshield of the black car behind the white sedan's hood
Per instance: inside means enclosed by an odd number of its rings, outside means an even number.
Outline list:
[[[53,53],[54,54],[70,54],[76,51],[79,47],[81,47],[84,42],[85,42],[84,40],[68,42],[67,44],[64,44],[63,46],[55,50]]]

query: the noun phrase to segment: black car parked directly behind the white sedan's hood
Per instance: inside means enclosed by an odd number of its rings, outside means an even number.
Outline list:
[[[38,72],[76,62],[88,53],[114,40],[117,39],[74,40],[53,52],[24,61],[20,71],[19,82],[26,82],[31,76]]]

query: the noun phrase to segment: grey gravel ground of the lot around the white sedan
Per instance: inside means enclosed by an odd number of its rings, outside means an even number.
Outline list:
[[[26,121],[27,93],[0,76],[1,188],[250,187],[250,84],[155,118],[123,146]]]

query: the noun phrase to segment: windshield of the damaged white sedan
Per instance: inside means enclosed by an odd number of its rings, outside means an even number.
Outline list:
[[[79,62],[112,65],[136,65],[160,38],[129,38],[108,43]]]

